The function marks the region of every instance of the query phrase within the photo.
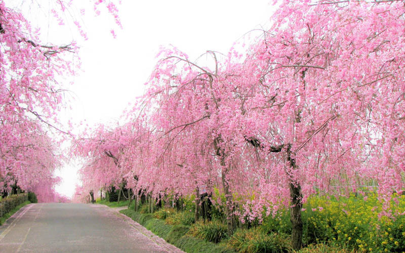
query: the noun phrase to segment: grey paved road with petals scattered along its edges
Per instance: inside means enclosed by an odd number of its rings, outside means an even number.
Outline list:
[[[38,203],[0,226],[0,252],[183,251],[105,205]]]

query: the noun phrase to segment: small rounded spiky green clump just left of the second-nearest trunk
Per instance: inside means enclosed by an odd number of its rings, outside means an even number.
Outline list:
[[[227,226],[218,220],[199,221],[191,226],[188,234],[195,238],[218,243],[227,237]]]

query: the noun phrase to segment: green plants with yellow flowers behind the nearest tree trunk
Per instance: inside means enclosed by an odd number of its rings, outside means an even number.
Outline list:
[[[329,243],[358,251],[405,251],[405,196],[394,195],[390,203],[392,217],[380,216],[383,202],[377,194],[360,194],[336,199],[312,196],[304,204],[303,242]],[[395,215],[396,214],[396,215]],[[290,214],[281,210],[275,217],[266,217],[260,226],[265,233],[291,234]]]

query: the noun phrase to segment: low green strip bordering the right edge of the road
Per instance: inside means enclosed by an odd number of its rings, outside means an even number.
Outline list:
[[[140,214],[132,209],[121,210],[120,213],[186,252],[234,252],[224,244],[216,244],[187,235],[190,226],[166,224],[164,220],[155,219],[151,214]]]

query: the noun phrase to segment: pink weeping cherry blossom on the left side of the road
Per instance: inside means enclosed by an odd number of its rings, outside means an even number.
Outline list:
[[[96,12],[100,4],[105,5],[120,25],[112,1],[93,3]],[[63,78],[73,76],[77,67],[66,56],[76,54],[78,47],[74,41],[44,44],[41,30],[31,27],[24,13],[10,8],[11,4],[0,1],[0,190],[10,191],[16,182],[16,187],[35,191],[39,201],[50,200],[54,193],[37,191],[53,191],[59,182],[53,173],[62,156],[55,147],[70,134],[58,117],[66,103]],[[63,25],[61,17],[72,2],[55,4],[52,13]],[[85,36],[80,23],[75,24]]]

